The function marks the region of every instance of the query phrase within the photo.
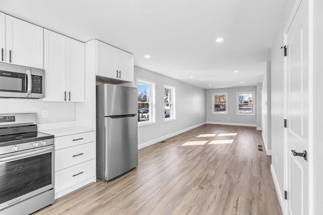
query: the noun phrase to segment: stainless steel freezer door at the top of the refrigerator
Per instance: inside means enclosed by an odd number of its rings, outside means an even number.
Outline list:
[[[98,99],[104,99],[104,116],[125,115],[138,113],[137,88],[104,84],[104,95],[97,95]],[[100,94],[101,90],[97,93]]]

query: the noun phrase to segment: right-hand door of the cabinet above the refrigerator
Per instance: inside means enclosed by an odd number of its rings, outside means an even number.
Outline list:
[[[133,55],[118,49],[119,79],[133,82]]]

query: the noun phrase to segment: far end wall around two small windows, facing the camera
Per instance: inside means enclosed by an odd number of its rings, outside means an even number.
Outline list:
[[[255,115],[237,115],[237,93],[254,92]],[[228,114],[212,114],[213,98],[212,93],[228,93]],[[206,121],[207,123],[247,125],[256,127],[257,124],[257,89],[252,87],[236,87],[210,89],[206,91]],[[230,119],[229,119],[230,118]]]

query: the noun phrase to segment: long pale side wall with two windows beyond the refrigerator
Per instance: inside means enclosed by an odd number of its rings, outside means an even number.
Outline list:
[[[156,124],[138,127],[139,148],[205,123],[205,90],[135,66],[137,78],[156,83]],[[164,121],[164,84],[176,87],[176,120]]]

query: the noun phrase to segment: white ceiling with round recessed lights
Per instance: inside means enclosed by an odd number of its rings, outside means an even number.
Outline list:
[[[139,67],[209,89],[262,82],[285,2],[0,0],[0,11],[83,42],[99,39],[133,53]]]

